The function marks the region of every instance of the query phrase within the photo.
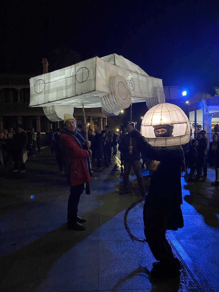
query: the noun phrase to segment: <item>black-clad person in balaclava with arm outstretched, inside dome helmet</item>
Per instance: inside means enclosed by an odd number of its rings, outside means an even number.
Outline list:
[[[171,139],[172,125],[154,126],[157,139]],[[184,154],[180,145],[153,147],[137,130],[131,132],[138,149],[154,160],[150,187],[143,209],[144,233],[150,250],[157,260],[151,274],[154,277],[179,277],[180,263],[173,256],[166,239],[166,230],[183,227],[181,165]]]

